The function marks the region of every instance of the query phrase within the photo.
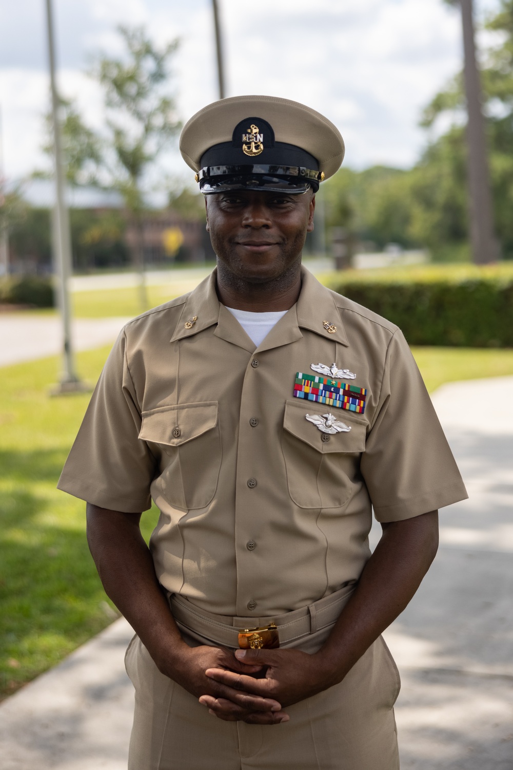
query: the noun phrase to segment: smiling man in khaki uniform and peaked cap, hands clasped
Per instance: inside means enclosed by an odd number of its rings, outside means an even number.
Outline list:
[[[59,482],[136,632],[129,767],[395,770],[380,634],[465,488],[400,331],[301,268],[335,126],[236,97],[181,150],[217,269],[125,326]]]

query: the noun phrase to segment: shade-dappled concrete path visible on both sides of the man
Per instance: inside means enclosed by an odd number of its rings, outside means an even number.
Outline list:
[[[385,634],[402,676],[401,770],[511,770],[513,377],[433,400],[471,499],[441,511],[435,564]],[[126,768],[131,635],[115,621],[0,705],[2,770]]]

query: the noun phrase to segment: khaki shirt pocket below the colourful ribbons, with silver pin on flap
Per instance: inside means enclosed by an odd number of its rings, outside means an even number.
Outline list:
[[[306,419],[307,413],[322,415],[321,404],[285,402],[281,449],[285,458],[288,492],[301,508],[339,508],[351,497],[355,480],[360,479],[360,456],[365,451],[366,423],[355,420],[345,410],[332,410],[337,420],[351,430],[323,434]],[[328,440],[323,440],[328,435]]]

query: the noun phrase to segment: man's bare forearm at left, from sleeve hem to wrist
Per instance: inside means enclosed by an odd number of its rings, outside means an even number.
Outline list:
[[[185,644],[158,584],[140,514],[87,505],[88,544],[105,592],[159,666]]]

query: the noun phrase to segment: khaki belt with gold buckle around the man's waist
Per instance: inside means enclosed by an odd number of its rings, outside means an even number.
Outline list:
[[[355,582],[351,582],[333,594],[309,604],[308,607],[261,618],[236,618],[212,614],[196,607],[185,597],[170,592],[168,592],[168,601],[178,628],[186,633],[208,638],[223,647],[238,648],[251,646],[251,642],[245,643],[242,637],[248,638],[255,631],[274,631],[272,627],[275,626],[278,631],[279,645],[284,646],[334,625],[342,606],[354,590]],[[266,634],[260,635],[266,638]],[[265,646],[278,647],[278,644],[274,640]]]

